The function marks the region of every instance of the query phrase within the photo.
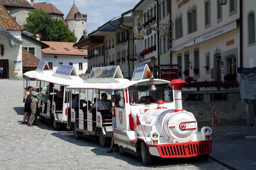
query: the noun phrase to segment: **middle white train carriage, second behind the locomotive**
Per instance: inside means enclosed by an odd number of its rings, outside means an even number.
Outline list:
[[[67,123],[67,109],[69,107],[70,100],[69,94],[65,93],[65,89],[67,86],[74,83],[82,83],[83,80],[77,76],[74,66],[63,64],[59,64],[54,74],[38,78],[37,80],[39,81],[40,88],[47,85],[53,86],[53,89],[49,90],[47,104],[42,100],[39,100],[39,120],[52,123],[54,130],[58,130],[62,124]],[[56,91],[61,90],[61,86],[64,86],[63,97],[55,96]],[[44,112],[44,110],[46,111]]]

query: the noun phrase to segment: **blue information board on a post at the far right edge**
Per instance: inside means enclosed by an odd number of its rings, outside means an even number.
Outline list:
[[[256,67],[236,68],[240,76],[240,91],[243,104],[256,103]]]

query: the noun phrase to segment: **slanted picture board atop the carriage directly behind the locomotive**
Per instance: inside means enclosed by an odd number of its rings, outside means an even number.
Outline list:
[[[117,66],[93,67],[89,79],[94,78],[114,78]]]

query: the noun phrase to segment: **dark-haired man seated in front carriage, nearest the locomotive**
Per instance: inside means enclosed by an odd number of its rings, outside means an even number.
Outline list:
[[[89,113],[91,113],[93,109],[96,109],[96,106],[98,106],[98,110],[110,110],[112,107],[112,102],[111,100],[107,100],[107,98],[108,95],[106,93],[102,93],[101,99],[98,100],[96,104],[91,106]],[[109,113],[109,115],[102,115],[102,119],[111,119],[111,114]]]

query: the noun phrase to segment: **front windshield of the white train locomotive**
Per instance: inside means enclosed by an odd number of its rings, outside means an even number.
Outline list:
[[[168,84],[155,85],[152,90],[151,85],[140,85],[129,87],[129,102],[134,104],[152,104],[158,100],[173,102],[172,89]]]

